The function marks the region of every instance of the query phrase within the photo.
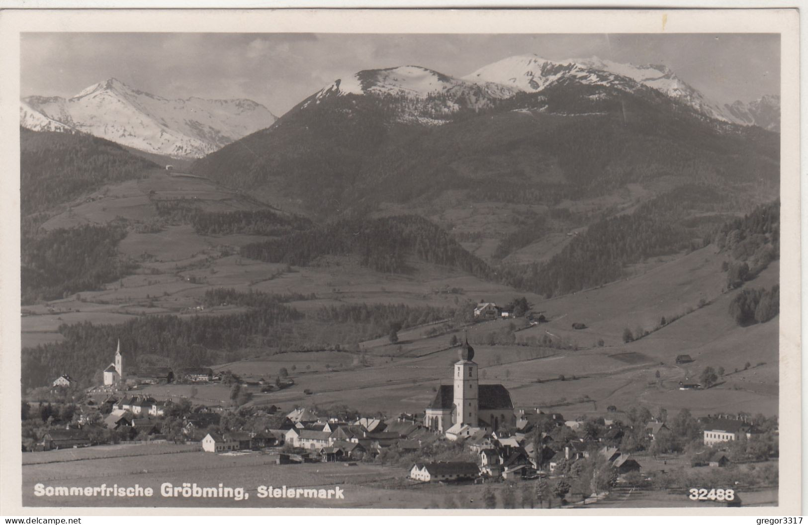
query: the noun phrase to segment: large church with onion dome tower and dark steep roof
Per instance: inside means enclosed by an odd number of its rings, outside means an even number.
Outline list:
[[[503,425],[516,426],[516,414],[507,388],[502,384],[479,384],[479,366],[474,363],[474,349],[468,339],[457,356],[452,384],[440,385],[435,399],[427,407],[424,425],[439,432],[465,426],[490,430]]]

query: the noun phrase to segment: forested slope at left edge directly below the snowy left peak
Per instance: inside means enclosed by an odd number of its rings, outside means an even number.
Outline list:
[[[34,132],[19,128],[20,208],[23,216],[138,178],[153,162],[123,146],[84,133]]]

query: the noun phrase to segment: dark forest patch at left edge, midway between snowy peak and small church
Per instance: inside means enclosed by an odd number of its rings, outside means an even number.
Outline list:
[[[61,299],[99,290],[136,266],[120,258],[116,246],[126,237],[123,225],[83,225],[53,229],[21,242],[22,303]]]

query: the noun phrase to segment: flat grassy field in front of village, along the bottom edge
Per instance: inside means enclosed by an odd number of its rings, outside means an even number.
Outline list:
[[[171,454],[170,449],[176,453]],[[103,448],[103,450],[102,450]],[[149,454],[149,451],[152,453]],[[134,459],[133,456],[137,456]],[[25,506],[200,506],[200,507],[332,507],[332,508],[482,508],[486,485],[419,484],[406,479],[402,467],[359,463],[288,464],[275,463],[273,454],[262,452],[210,454],[189,452],[183,445],[135,445],[93,447],[77,451],[32,452],[23,456],[23,505]],[[646,458],[641,458],[646,462]],[[661,463],[660,463],[661,464]],[[645,463],[643,463],[645,466]],[[650,466],[649,468],[653,468]],[[667,467],[671,468],[671,467]],[[133,486],[154,489],[150,498],[104,498],[100,496],[40,496],[34,486]],[[169,498],[162,496],[163,483],[181,486],[196,483],[205,487],[240,487],[246,498]],[[523,483],[517,484],[517,493]],[[260,485],[288,488],[343,490],[344,499],[259,498]],[[502,483],[490,484],[499,494]],[[744,506],[776,505],[776,489],[739,490]],[[518,501],[518,500],[517,500]],[[712,504],[712,503],[710,503]],[[553,498],[543,507],[558,508]],[[498,497],[498,507],[503,504]],[[594,504],[609,507],[705,506],[680,491],[631,491],[612,494]],[[537,508],[538,510],[538,508]]]

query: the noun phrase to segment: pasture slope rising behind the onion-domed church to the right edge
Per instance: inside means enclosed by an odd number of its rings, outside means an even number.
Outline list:
[[[514,321],[517,342],[552,334],[553,339],[575,344],[579,350],[486,344],[488,332],[507,330],[511,321],[469,327],[481,382],[505,384],[518,408],[558,410],[567,418],[603,414],[608,405],[624,410],[638,402],[653,412],[686,408],[696,415],[741,410],[776,414],[777,319],[747,327],[735,324],[729,303],[737,292],[722,293],[726,278],[720,271],[722,255],[712,250],[696,250],[633,279],[537,302],[535,309],[544,310],[549,322],[519,330],[527,323]],[[777,275],[774,262],[746,286],[771,286]],[[640,294],[638,289],[646,292]],[[699,307],[702,299],[705,305]],[[625,327],[636,330],[635,325],[641,325],[651,330],[655,326],[651,321],[659,323],[660,317],[675,314],[682,317],[637,341],[622,342]],[[588,328],[573,330],[572,322],[583,322]],[[259,404],[284,408],[346,404],[368,412],[418,414],[431,401],[436,386],[451,380],[451,365],[457,359],[457,350],[449,347],[452,334],[464,336],[458,330],[427,337],[424,328],[417,328],[402,330],[397,344],[386,338],[365,342],[360,353],[366,366],[357,362],[356,354],[314,352],[259,356],[217,369],[271,377],[285,367],[295,385],[256,395],[254,402]],[[604,346],[598,346],[599,338]],[[694,361],[678,365],[679,354],[689,354]],[[752,366],[743,370],[747,362]],[[680,381],[697,382],[706,366],[725,369],[719,384],[708,390],[679,389]],[[306,395],[305,389],[313,393]]]

